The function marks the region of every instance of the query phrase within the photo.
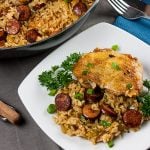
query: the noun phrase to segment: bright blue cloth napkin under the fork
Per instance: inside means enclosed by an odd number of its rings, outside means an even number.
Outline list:
[[[144,2],[150,4],[150,0],[145,0]],[[114,25],[126,30],[150,45],[150,20],[141,18],[131,21],[119,16],[115,20]]]

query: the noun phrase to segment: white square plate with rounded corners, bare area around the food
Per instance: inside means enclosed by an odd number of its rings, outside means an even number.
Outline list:
[[[89,52],[96,47],[109,48],[118,44],[121,52],[129,53],[139,58],[144,65],[145,77],[150,76],[150,47],[129,33],[107,23],[97,24],[72,38],[57,50],[47,56],[21,83],[18,93],[25,107],[41,127],[41,129],[58,145],[66,150],[107,150],[106,144],[92,145],[80,137],[70,137],[63,134],[60,127],[46,111],[47,106],[54,102],[54,97],[48,96],[45,88],[38,81],[42,71],[49,70],[53,65],[59,65],[70,53]],[[146,150],[150,147],[150,122],[136,132],[125,134],[115,140],[112,150]]]

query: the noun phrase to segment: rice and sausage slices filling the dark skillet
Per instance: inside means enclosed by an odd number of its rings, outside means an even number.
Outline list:
[[[0,0],[0,47],[23,46],[54,36],[84,15],[93,2]]]

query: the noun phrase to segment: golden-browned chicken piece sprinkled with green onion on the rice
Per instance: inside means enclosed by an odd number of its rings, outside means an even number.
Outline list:
[[[97,48],[84,54],[75,64],[73,74],[115,95],[137,96],[143,86],[143,67],[137,58],[111,49]]]

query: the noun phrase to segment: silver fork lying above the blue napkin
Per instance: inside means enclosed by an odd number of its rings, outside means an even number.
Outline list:
[[[150,19],[150,17],[147,16],[144,12],[128,5],[123,0],[108,0],[108,2],[124,18],[131,19],[131,20],[139,19],[139,18]]]

